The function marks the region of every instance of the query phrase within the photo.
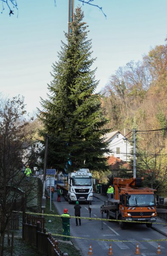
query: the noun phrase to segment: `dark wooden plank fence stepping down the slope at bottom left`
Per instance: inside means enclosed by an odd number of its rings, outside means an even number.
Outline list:
[[[23,240],[37,247],[46,256],[68,256],[59,249],[58,240],[46,234],[45,218],[25,214],[23,218]]]

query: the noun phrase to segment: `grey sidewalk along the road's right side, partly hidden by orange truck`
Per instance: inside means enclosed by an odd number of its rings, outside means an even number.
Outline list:
[[[93,193],[93,196],[95,198],[98,198],[99,200],[101,200],[103,202],[108,200],[107,195],[101,195],[101,194],[98,194],[98,193]],[[162,223],[162,224],[156,224],[156,223]],[[165,223],[167,223],[167,220],[157,217],[156,222],[153,223],[152,229],[156,230],[157,232],[161,233],[163,236],[167,237],[167,224],[165,224]]]

